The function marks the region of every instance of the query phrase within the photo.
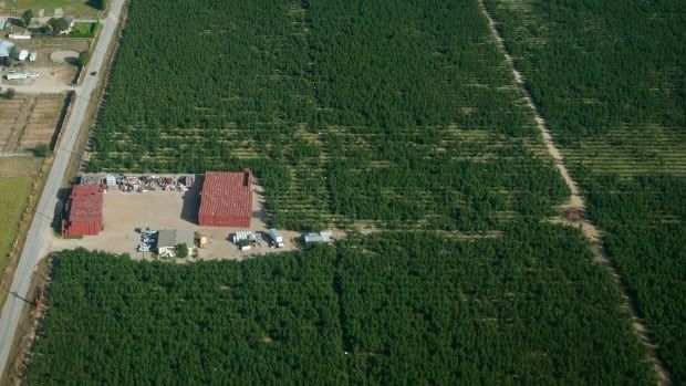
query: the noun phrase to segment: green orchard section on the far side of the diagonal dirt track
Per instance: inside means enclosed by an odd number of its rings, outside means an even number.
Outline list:
[[[590,215],[672,380],[686,383],[686,180],[666,174],[686,140],[684,2],[486,3],[568,159],[592,165],[573,168]],[[646,149],[675,161],[626,156]],[[625,179],[603,170],[611,155],[626,159]]]

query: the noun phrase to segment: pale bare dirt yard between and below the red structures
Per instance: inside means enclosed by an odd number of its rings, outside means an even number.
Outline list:
[[[138,252],[141,234],[135,231],[139,227],[160,229],[186,229],[197,231],[208,237],[208,248],[198,250],[198,258],[194,260],[235,259],[264,254],[277,251],[298,249],[300,233],[280,231],[285,241],[285,248],[272,249],[267,242],[262,247],[249,251],[240,251],[229,241],[229,234],[248,230],[245,228],[200,227],[197,225],[197,212],[200,205],[199,187],[188,191],[147,191],[124,192],[118,189],[110,190],[105,195],[103,222],[105,229],[98,236],[86,236],[83,239],[61,239],[55,237],[52,250],[86,249],[104,250],[114,253],[128,253],[134,259],[154,259],[149,252]],[[252,231],[268,232],[267,216],[263,210],[262,188],[253,182],[252,187]]]

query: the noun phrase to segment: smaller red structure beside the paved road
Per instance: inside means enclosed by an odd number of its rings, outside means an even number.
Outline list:
[[[66,201],[62,236],[97,234],[103,229],[102,185],[76,185]]]

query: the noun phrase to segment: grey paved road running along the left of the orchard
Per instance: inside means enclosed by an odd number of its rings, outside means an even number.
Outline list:
[[[101,39],[95,46],[95,52],[91,58],[87,72],[100,71],[103,65],[107,46],[115,38],[115,30],[124,0],[112,1],[110,14],[103,22]],[[4,303],[2,314],[0,315],[0,374],[3,374],[14,341],[14,333],[22,307],[27,304],[20,298],[25,298],[35,267],[50,250],[52,238],[51,222],[54,208],[58,205],[58,191],[64,178],[66,166],[70,160],[72,149],[79,136],[79,129],[85,118],[89,98],[95,88],[97,79],[87,75],[83,85],[76,88],[76,101],[72,109],[72,115],[66,124],[65,132],[62,134],[60,147],[55,149],[55,158],[48,176],[48,182],[43,190],[43,195],[38,205],[33,222],[29,228],[29,234],[24,249],[19,260],[14,280],[10,290],[10,295]]]

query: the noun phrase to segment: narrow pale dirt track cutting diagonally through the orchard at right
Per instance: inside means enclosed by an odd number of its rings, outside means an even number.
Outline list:
[[[582,213],[582,217],[580,219],[581,230],[592,243],[592,251],[595,257],[595,261],[601,263],[607,270],[615,285],[620,290],[623,301],[624,301],[623,306],[632,317],[634,330],[638,334],[638,337],[641,338],[641,342],[643,343],[643,345],[646,347],[646,351],[648,353],[651,361],[654,364],[654,368],[659,378],[661,384],[669,385],[672,383],[669,379],[669,374],[667,373],[664,364],[659,359],[659,356],[657,353],[657,346],[651,341],[651,336],[649,336],[647,328],[643,324],[643,321],[637,316],[635,305],[633,304],[633,300],[627,295],[628,292],[626,290],[626,286],[624,285],[622,278],[617,273],[616,268],[614,267],[614,263],[607,258],[605,248],[603,246],[603,240],[601,238],[601,232],[595,227],[595,225],[593,225],[593,222],[589,220],[589,218],[585,216],[586,206],[583,200],[583,197],[581,196],[579,191],[579,187],[576,186],[576,182],[572,179],[571,175],[569,174],[567,166],[564,166],[562,154],[560,153],[560,150],[557,148],[557,146],[553,143],[552,136],[550,135],[550,131],[548,129],[545,121],[543,119],[543,117],[541,117],[538,111],[538,107],[536,106],[536,104],[533,103],[533,100],[531,98],[531,95],[527,91],[523,76],[514,66],[512,56],[510,56],[510,54],[507,52],[502,38],[500,36],[498,29],[496,28],[496,23],[493,22],[493,19],[491,18],[490,13],[486,10],[486,7],[484,6],[482,0],[479,0],[479,7],[481,9],[481,12],[484,13],[484,17],[488,21],[488,25],[490,28],[493,39],[496,40],[496,43],[498,44],[498,49],[505,56],[506,62],[508,63],[510,70],[512,71],[514,81],[517,82],[517,85],[522,92],[524,100],[527,101],[527,105],[529,106],[529,108],[531,108],[531,112],[533,113],[536,125],[539,128],[539,132],[541,133],[543,143],[545,145],[545,148],[548,149],[548,154],[552,157],[555,164],[555,167],[560,171],[560,175],[562,176],[562,178],[564,179],[564,182],[570,189],[570,192],[571,192],[570,201],[567,205],[564,205],[563,209],[568,209],[568,210],[572,209],[572,210],[578,211],[579,213]],[[564,218],[560,218],[559,222],[570,223],[570,221]]]

